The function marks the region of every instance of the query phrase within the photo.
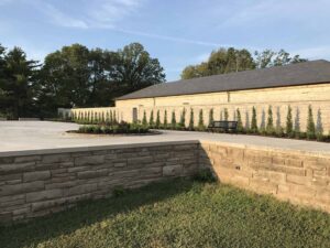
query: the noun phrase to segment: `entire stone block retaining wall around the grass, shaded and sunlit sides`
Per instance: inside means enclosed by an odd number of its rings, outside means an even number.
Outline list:
[[[0,154],[0,223],[211,168],[233,184],[330,213],[330,155],[180,141]]]

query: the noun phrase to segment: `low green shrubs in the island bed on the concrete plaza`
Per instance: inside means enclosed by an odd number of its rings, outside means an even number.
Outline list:
[[[99,125],[84,125],[79,127],[79,133],[105,133],[105,134],[114,134],[114,133],[147,133],[148,126],[143,126],[139,123],[99,123]]]

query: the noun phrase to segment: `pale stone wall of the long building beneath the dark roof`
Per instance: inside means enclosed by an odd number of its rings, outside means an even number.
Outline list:
[[[194,110],[194,122],[197,126],[199,111],[202,109],[205,125],[208,125],[210,109],[213,109],[215,119],[224,118],[227,109],[229,119],[234,120],[237,109],[240,109],[243,125],[249,128],[252,119],[252,108],[256,108],[257,123],[263,127],[267,120],[268,107],[272,106],[274,126],[285,127],[288,106],[293,110],[294,123],[301,131],[306,130],[308,106],[312,107],[314,119],[324,133],[330,131],[330,84],[278,87],[253,90],[238,90],[229,93],[196,94],[186,96],[168,96],[142,99],[117,100],[116,107],[122,120],[132,121],[133,108],[138,110],[138,119],[142,120],[144,111],[147,119],[151,111],[160,111],[161,121],[165,110],[170,121],[175,112],[177,122],[186,109],[186,126],[189,122],[190,109]]]

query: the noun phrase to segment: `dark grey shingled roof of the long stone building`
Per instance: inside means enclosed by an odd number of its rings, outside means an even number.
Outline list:
[[[117,100],[330,83],[324,60],[153,85]]]

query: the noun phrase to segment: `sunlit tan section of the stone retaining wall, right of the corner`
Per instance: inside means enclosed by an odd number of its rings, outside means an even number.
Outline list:
[[[199,162],[220,182],[330,213],[330,155],[202,142]]]

